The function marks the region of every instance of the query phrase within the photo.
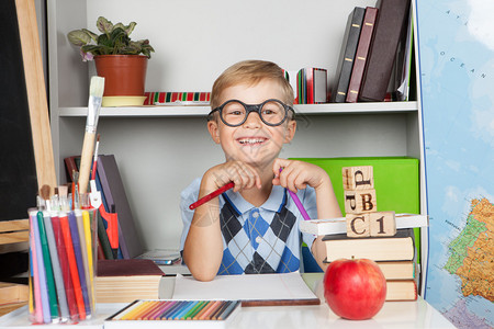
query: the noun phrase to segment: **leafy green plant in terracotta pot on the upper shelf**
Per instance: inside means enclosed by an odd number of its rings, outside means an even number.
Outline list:
[[[144,102],[147,60],[155,49],[148,39],[131,39],[136,24],[113,24],[100,16],[97,21],[100,35],[87,29],[67,34],[68,41],[80,47],[82,60],[94,59],[98,76],[104,77],[103,106],[105,98],[111,97],[137,97],[138,102]]]

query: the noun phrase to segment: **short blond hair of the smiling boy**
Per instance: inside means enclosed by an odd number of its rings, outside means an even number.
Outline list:
[[[280,83],[284,93],[283,99],[280,101],[287,105],[293,105],[293,89],[285,79],[282,68],[272,61],[244,60],[228,67],[214,81],[211,92],[211,109],[216,109],[221,105],[221,95],[226,88],[237,84],[255,86],[265,79]]]

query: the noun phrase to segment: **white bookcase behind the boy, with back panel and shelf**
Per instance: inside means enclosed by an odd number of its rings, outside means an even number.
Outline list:
[[[333,83],[348,14],[356,5],[375,2],[48,0],[49,104],[58,181],[66,181],[63,159],[80,152],[89,79],[96,73],[93,63],[82,63],[67,42],[70,30],[96,30],[99,15],[112,22],[136,21],[133,36],[149,38],[156,49],[146,91],[210,91],[227,66],[248,58],[269,59],[288,70],[326,68]],[[412,100],[297,105],[296,136],[281,157],[409,156],[422,162],[419,92]],[[101,111],[100,152],[115,155],[138,236],[148,249],[179,246],[180,192],[224,160],[207,134],[207,112],[206,106]],[[424,170],[420,175],[425,209]]]

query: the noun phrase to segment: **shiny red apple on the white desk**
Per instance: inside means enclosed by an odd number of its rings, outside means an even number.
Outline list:
[[[324,274],[324,296],[329,308],[350,320],[370,319],[386,298],[386,280],[369,259],[339,259]]]

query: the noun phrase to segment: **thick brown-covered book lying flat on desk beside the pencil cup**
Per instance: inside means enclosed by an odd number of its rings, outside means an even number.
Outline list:
[[[94,291],[97,303],[130,303],[157,299],[165,273],[151,260],[98,260]]]

